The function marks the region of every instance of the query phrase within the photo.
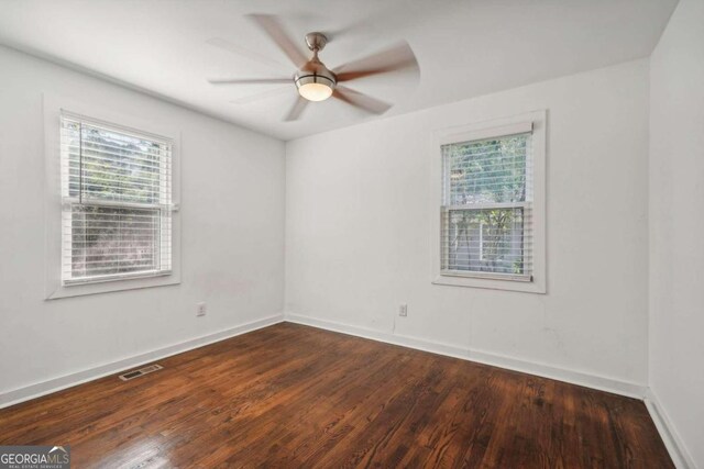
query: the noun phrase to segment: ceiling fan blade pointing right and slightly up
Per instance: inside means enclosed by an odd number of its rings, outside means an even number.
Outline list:
[[[337,67],[338,81],[350,81],[371,75],[397,70],[418,71],[418,60],[407,42],[380,51],[359,60]]]

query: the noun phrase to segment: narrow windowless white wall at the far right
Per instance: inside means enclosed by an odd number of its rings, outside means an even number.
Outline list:
[[[704,1],[681,0],[650,63],[650,387],[704,468]],[[689,453],[689,457],[686,456]]]

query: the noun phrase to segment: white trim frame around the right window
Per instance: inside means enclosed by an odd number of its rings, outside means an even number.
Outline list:
[[[441,263],[441,216],[442,216],[442,154],[441,146],[450,143],[491,138],[515,133],[514,130],[526,123],[532,123],[532,234],[534,270],[530,281],[486,276],[453,276],[442,273]],[[431,163],[431,281],[433,284],[472,287],[494,290],[512,290],[529,293],[547,292],[547,250],[546,250],[546,136],[547,111],[532,111],[510,118],[477,122],[459,127],[437,130],[433,134]]]

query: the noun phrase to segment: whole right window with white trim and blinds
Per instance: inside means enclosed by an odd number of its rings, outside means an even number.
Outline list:
[[[544,292],[544,112],[442,133],[437,144],[433,281]]]

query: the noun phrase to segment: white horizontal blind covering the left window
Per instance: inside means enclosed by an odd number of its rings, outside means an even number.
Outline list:
[[[62,281],[167,275],[172,142],[62,112]]]

